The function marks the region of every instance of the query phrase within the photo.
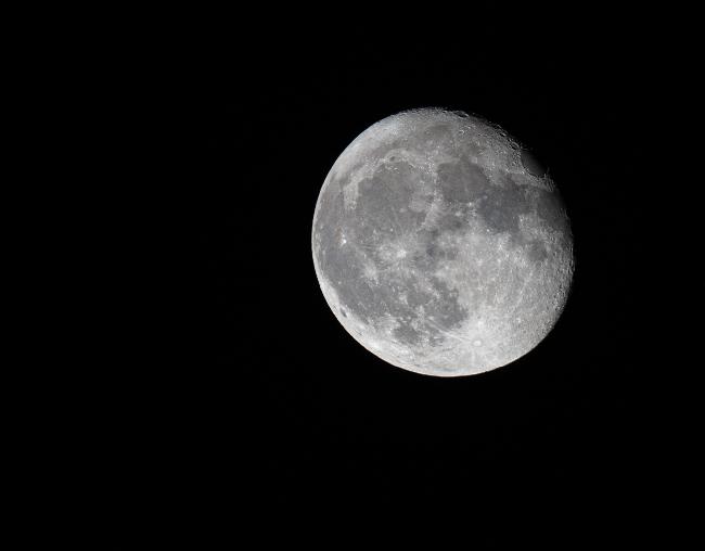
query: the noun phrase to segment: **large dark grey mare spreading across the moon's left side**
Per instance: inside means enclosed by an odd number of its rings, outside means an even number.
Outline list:
[[[424,213],[399,209],[399,205],[410,204],[416,191],[416,178],[412,167],[403,162],[380,167],[372,178],[359,183],[359,198],[352,210],[346,210],[343,201],[341,182],[347,178],[331,181],[331,193],[323,198],[323,215],[317,225],[320,266],[342,305],[366,323],[379,325],[383,318],[392,317],[398,323],[394,335],[399,342],[419,344],[422,335],[427,335],[430,344],[436,344],[443,338],[438,325],[456,328],[467,312],[458,304],[458,293],[437,278],[428,277],[420,282],[420,273],[433,273],[439,260],[454,255],[437,243],[439,232],[448,229],[446,225],[424,230],[421,228]],[[409,233],[418,235],[416,249],[410,252],[402,266],[387,266],[379,247],[386,240]],[[349,235],[356,245],[342,246],[343,235]],[[366,277],[366,260],[380,268],[381,282]],[[406,302],[399,300],[402,293]],[[420,307],[424,309],[423,318]]]

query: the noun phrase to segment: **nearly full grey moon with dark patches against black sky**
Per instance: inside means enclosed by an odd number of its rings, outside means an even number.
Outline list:
[[[515,361],[557,321],[574,272],[559,191],[496,125],[440,108],[372,125],[321,188],[321,291],[386,362],[436,376]]]

